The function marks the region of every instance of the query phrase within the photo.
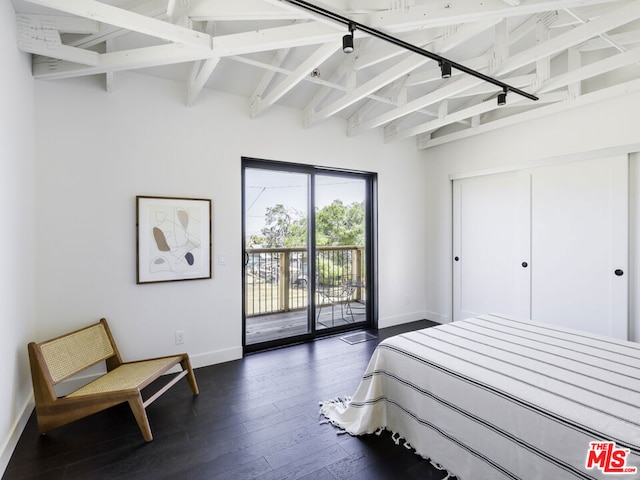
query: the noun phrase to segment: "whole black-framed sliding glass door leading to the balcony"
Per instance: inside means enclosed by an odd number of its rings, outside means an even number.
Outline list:
[[[371,324],[374,180],[243,159],[246,351]]]

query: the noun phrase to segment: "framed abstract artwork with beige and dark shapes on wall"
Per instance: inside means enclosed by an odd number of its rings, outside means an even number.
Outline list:
[[[211,278],[211,200],[136,197],[136,283]]]

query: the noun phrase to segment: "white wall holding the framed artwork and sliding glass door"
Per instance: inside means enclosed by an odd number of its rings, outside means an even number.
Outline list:
[[[303,129],[279,107],[251,120],[247,99],[212,91],[186,107],[183,83],[137,73],[116,74],[111,93],[100,77],[35,90],[42,338],[104,316],[125,358],[240,357],[242,156],[378,172],[380,326],[425,317],[426,171],[413,142],[346,138],[339,120]],[[136,195],[213,200],[213,279],[135,284]]]

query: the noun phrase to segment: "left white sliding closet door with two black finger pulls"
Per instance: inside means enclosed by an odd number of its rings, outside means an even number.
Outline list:
[[[530,176],[453,182],[453,319],[530,315]]]

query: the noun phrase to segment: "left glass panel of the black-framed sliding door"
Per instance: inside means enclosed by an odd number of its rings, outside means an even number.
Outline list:
[[[244,170],[245,345],[311,333],[310,175]]]

